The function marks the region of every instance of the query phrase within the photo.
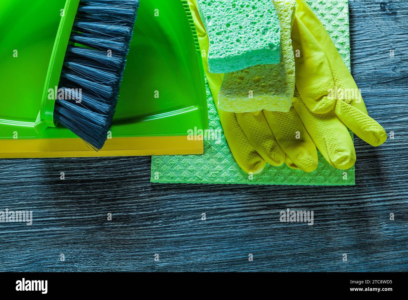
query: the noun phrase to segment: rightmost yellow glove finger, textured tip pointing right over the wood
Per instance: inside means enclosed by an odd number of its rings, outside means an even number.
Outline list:
[[[387,140],[384,128],[356,107],[338,100],[335,113],[351,131],[368,144],[377,147]]]

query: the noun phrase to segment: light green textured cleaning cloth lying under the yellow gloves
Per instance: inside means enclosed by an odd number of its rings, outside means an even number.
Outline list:
[[[341,57],[350,69],[348,0],[307,1],[326,27]],[[213,184],[353,185],[354,167],[338,170],[319,153],[319,166],[312,173],[266,165],[258,175],[248,175],[236,164],[222,133],[208,84],[210,134],[204,134],[204,155],[152,156],[151,182]],[[194,129],[192,129],[194,130]],[[197,129],[196,129],[197,130]]]

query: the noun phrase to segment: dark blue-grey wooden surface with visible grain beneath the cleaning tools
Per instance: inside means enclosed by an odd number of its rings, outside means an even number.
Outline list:
[[[395,132],[355,138],[356,186],[151,184],[149,157],[0,160],[0,210],[33,211],[32,226],[0,223],[0,271],[407,271],[407,24],[406,0],[350,0],[353,75]],[[279,222],[286,208],[315,224]]]

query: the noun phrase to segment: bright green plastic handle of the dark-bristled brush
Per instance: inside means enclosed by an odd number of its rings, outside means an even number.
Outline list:
[[[47,127],[57,126],[54,120],[55,95],[58,91],[58,83],[60,82],[65,53],[67,52],[69,37],[71,36],[79,2],[80,0],[67,0],[64,11],[62,12],[62,18],[55,38],[47,78],[44,84],[41,109],[34,124],[34,129],[37,133]]]

